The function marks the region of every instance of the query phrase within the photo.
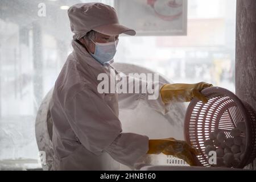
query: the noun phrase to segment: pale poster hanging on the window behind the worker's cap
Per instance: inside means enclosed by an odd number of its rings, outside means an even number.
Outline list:
[[[114,1],[119,22],[137,35],[187,35],[187,0]]]

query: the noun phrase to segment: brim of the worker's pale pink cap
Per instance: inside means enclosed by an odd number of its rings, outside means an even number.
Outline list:
[[[127,35],[135,35],[135,30],[125,27],[118,23],[112,24],[104,24],[99,27],[92,28],[92,30],[100,32],[101,34],[105,35],[119,35],[119,34],[127,34]]]

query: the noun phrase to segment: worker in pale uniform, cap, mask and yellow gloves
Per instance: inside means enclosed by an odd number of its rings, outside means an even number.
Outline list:
[[[172,101],[186,102],[197,97],[207,102],[200,91],[211,85],[156,82],[160,96],[155,100],[149,100],[148,93],[99,93],[97,76],[118,73],[111,65],[118,35],[135,35],[135,31],[119,24],[114,8],[102,3],[74,5],[69,8],[68,16],[75,34],[73,52],[57,77],[50,107],[53,169],[110,170],[110,158],[133,167],[146,154],[175,155],[174,144],[183,147],[186,156],[195,155],[195,148],[183,141],[150,140],[147,136],[122,133],[118,101],[127,107],[142,101],[165,114]]]

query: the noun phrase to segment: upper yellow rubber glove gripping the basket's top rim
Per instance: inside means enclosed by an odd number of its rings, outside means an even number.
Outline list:
[[[206,82],[199,82],[197,84],[165,84],[160,89],[160,95],[164,104],[170,101],[190,102],[194,97],[207,103],[208,99],[200,91],[209,86],[212,86],[212,84],[207,84]]]

